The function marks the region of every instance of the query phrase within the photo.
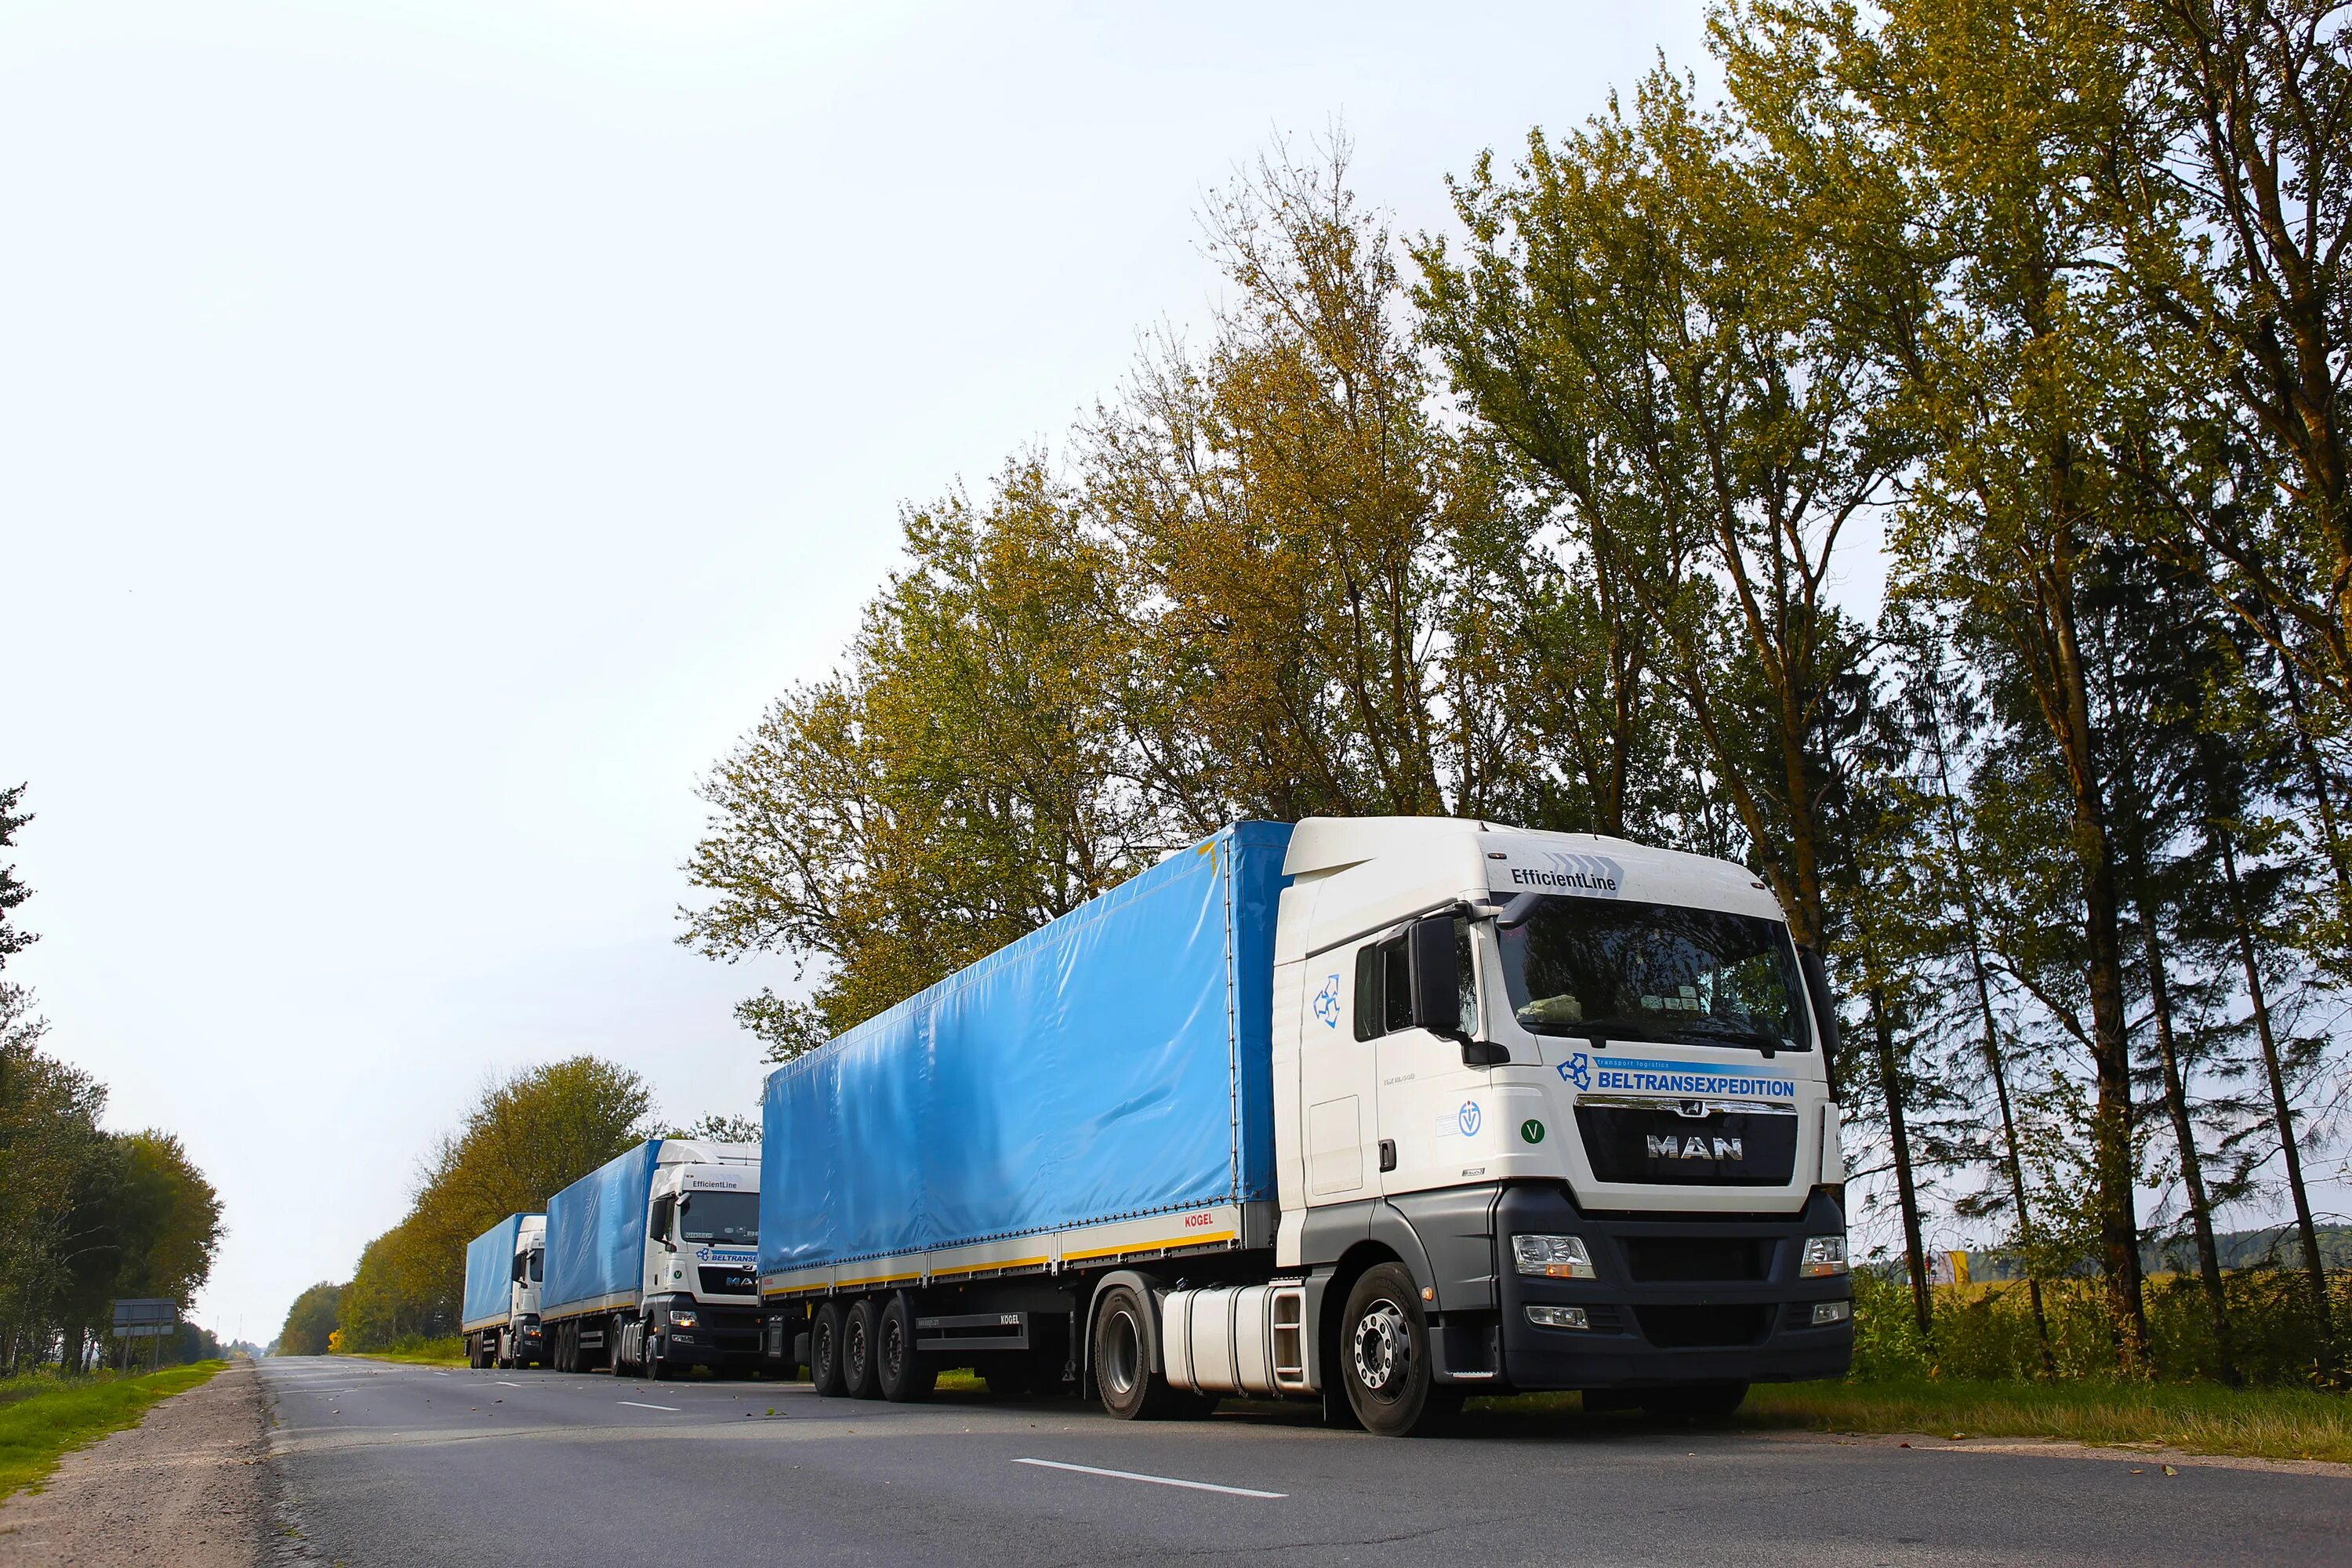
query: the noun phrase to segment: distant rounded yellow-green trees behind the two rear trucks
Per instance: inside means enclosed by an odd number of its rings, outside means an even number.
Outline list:
[[[275,1354],[322,1356],[459,1333],[466,1244],[652,1135],[757,1143],[741,1117],[670,1128],[644,1079],[595,1056],[524,1067],[482,1088],[463,1121],[423,1159],[407,1215],[360,1251],[348,1284],[294,1298]]]

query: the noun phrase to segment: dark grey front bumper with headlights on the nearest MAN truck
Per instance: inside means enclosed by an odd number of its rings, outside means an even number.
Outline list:
[[[1564,1185],[1505,1187],[1496,1206],[1494,1382],[1606,1389],[1844,1378],[1853,1363],[1853,1319],[1816,1328],[1813,1305],[1851,1302],[1853,1281],[1797,1274],[1806,1237],[1844,1232],[1846,1218],[1828,1192],[1788,1218],[1705,1218],[1588,1215]],[[1597,1279],[1515,1272],[1515,1234],[1583,1237]],[[1708,1279],[1710,1272],[1726,1276]],[[1531,1305],[1583,1307],[1590,1328],[1543,1328],[1529,1321]],[[1449,1333],[1449,1349],[1454,1340]]]

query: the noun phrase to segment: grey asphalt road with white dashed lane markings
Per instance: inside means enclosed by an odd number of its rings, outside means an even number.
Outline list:
[[[1456,1436],[1390,1441],[1289,1408],[1155,1425],[978,1394],[261,1371],[289,1549],[353,1568],[2352,1563],[2352,1479],[2336,1474],[2166,1476],[2112,1455],[1583,1418],[1472,1415]]]

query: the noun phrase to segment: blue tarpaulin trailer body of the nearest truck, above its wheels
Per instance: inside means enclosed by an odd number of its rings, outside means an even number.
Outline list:
[[[771,1072],[762,1293],[1244,1244],[1289,837],[1225,827]]]

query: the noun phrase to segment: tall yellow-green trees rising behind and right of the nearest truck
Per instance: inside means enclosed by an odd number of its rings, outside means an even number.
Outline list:
[[[1232,818],[1731,856],[1830,954],[1922,1342],[1940,1208],[2020,1262],[2018,1371],[2338,1380],[2343,16],[1731,0],[1708,49],[1470,158],[1449,235],[1265,153],[1204,341],[903,510],[710,771],[682,940],[814,971],[739,1009],[783,1060]]]

